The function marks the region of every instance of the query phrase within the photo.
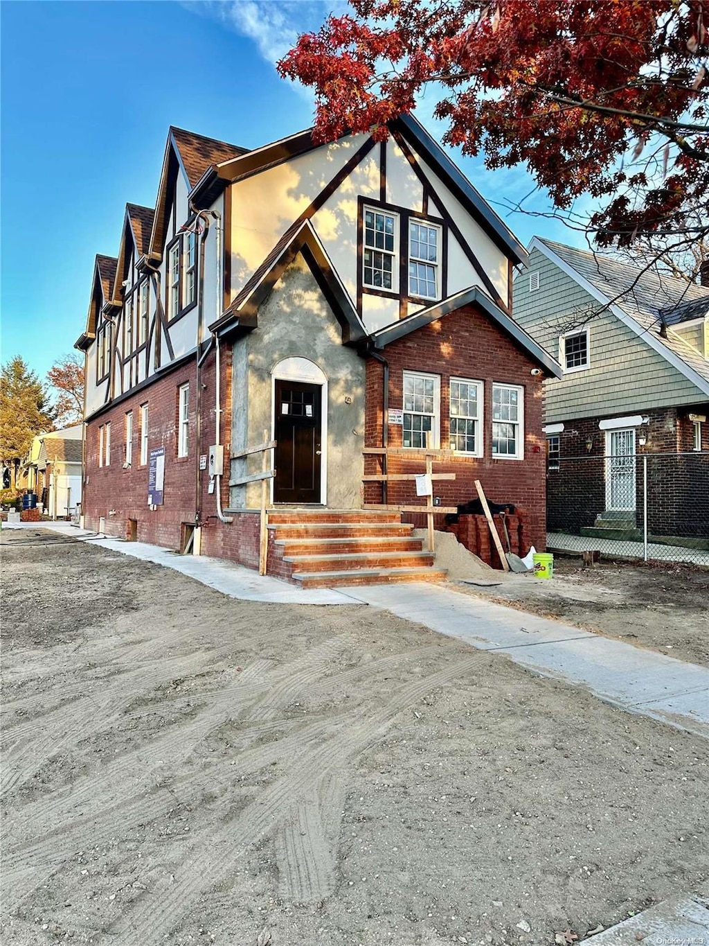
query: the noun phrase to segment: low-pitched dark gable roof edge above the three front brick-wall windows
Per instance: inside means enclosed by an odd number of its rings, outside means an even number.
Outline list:
[[[539,364],[543,365],[550,375],[562,377],[562,366],[540,344],[534,341],[525,329],[511,319],[507,312],[496,306],[493,300],[476,286],[471,289],[463,289],[455,295],[448,296],[442,302],[433,306],[424,308],[419,312],[414,312],[406,319],[400,319],[391,325],[385,325],[384,328],[372,332],[372,343],[374,348],[385,348],[391,342],[404,338],[410,332],[415,332],[424,325],[436,322],[448,315],[450,312],[456,312],[463,306],[476,305],[480,307],[494,323],[498,324],[507,335],[524,348],[531,357]]]

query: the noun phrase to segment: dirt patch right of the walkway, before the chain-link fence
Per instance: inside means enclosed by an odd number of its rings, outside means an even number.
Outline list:
[[[476,576],[475,576],[476,577]],[[578,558],[554,557],[554,577],[480,576],[459,590],[559,618],[641,647],[709,665],[709,570],[684,565],[602,562],[584,568]]]

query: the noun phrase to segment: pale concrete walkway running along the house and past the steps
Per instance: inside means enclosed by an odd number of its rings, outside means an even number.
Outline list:
[[[6,528],[4,525],[3,528]],[[538,674],[584,686],[606,702],[709,738],[709,668],[462,594],[446,585],[306,590],[233,562],[96,537],[69,523],[25,523],[174,569],[233,598],[273,604],[370,604]]]

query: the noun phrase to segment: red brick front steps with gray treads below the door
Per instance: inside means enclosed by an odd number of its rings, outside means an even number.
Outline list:
[[[368,510],[271,510],[268,530],[279,572],[303,587],[442,581],[413,526],[398,513]],[[282,565],[281,565],[282,563]]]

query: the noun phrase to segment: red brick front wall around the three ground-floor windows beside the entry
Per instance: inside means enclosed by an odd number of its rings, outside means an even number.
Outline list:
[[[543,376],[533,376],[537,368],[526,351],[477,307],[464,307],[391,342],[383,351],[389,361],[389,408],[403,405],[403,376],[406,370],[423,371],[441,377],[441,447],[448,446],[450,434],[450,378],[482,381],[484,385],[483,443],[481,458],[456,457],[434,464],[434,472],[455,473],[456,480],[434,484],[434,496],[442,506],[456,506],[476,499],[474,482],[480,480],[488,499],[517,506],[524,521],[523,542],[545,549],[545,441],[542,434]],[[366,429],[368,447],[381,446],[383,408],[383,366],[367,360]],[[495,459],[492,454],[493,381],[520,385],[524,389],[524,459]],[[402,427],[389,425],[389,447],[402,446]],[[390,458],[389,473],[424,472],[423,451],[412,450],[412,459]],[[415,463],[414,463],[415,458]],[[379,469],[368,457],[366,472]],[[368,484],[367,501],[381,502],[378,483]],[[417,503],[413,483],[389,483],[390,503]],[[408,521],[416,521],[409,517]],[[423,520],[417,525],[422,524]],[[437,517],[441,528],[443,517]]]

